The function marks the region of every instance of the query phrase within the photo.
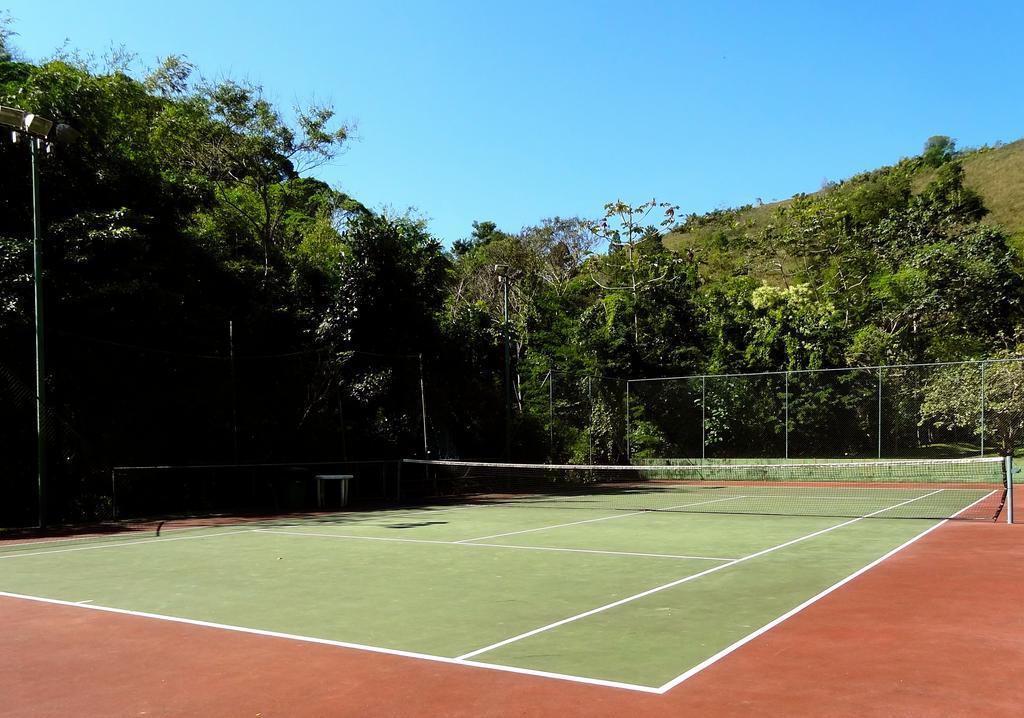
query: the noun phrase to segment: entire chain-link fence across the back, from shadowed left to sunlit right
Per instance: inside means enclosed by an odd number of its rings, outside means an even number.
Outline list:
[[[38,515],[24,353],[0,364],[2,525]],[[1024,435],[1024,360],[629,381],[531,368],[506,419],[500,373],[445,382],[418,355],[183,354],[73,335],[49,354],[54,521],[110,517],[119,465],[490,459],[505,440],[512,460],[571,464],[956,458],[1013,455]]]

